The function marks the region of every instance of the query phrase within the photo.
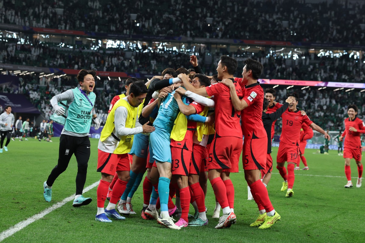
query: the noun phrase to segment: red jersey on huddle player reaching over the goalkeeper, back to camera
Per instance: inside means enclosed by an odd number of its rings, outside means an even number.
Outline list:
[[[242,99],[241,86],[233,81],[239,99]],[[215,133],[219,137],[242,138],[239,125],[241,111],[236,111],[231,102],[229,87],[223,83],[214,83],[205,87],[209,96],[214,95],[215,101]]]

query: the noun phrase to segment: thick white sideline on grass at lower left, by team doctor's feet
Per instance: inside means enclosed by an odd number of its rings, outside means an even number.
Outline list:
[[[94,184],[89,185],[87,188],[85,188],[83,190],[83,192],[87,192],[91,189],[93,189],[94,187],[96,187],[97,185],[99,185],[99,181],[96,181]],[[43,210],[40,213],[37,213],[33,216],[31,216],[30,218],[19,222],[17,224],[15,224],[15,226],[12,226],[10,228],[8,228],[7,230],[1,232],[0,234],[0,241],[3,241],[4,239],[8,238],[9,236],[14,235],[16,232],[18,232],[19,230],[23,229],[24,227],[28,226],[29,224],[35,222],[35,220],[41,219],[42,217],[46,216],[48,213],[52,212],[53,210],[62,207],[63,205],[65,205],[66,203],[68,203],[69,201],[72,201],[75,198],[75,195],[71,195],[69,197],[66,197],[64,200],[53,204],[51,207],[46,208],[45,210]]]

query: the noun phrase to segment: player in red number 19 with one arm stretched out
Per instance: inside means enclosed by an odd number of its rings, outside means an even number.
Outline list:
[[[307,115],[300,115],[300,110],[296,107],[299,99],[297,94],[288,94],[288,98],[292,99],[292,103],[289,104],[288,110],[281,115],[283,127],[281,128],[279,150],[276,157],[276,168],[284,179],[281,191],[288,189],[285,197],[292,197],[294,195],[294,167],[299,156],[300,129],[302,124],[306,123],[312,129],[324,134],[324,138],[328,140],[330,140],[330,136],[320,126],[312,122]],[[284,167],[285,161],[288,162],[288,175]]]

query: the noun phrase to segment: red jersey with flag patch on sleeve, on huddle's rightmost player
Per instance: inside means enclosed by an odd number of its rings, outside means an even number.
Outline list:
[[[242,134],[246,138],[267,137],[262,123],[262,103],[264,102],[264,90],[260,83],[253,83],[243,89],[243,100],[249,105],[242,110]]]

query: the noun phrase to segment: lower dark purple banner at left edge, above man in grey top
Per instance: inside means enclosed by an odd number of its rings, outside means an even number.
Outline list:
[[[14,113],[33,113],[41,114],[34,105],[22,94],[0,93],[0,104],[11,106]]]

